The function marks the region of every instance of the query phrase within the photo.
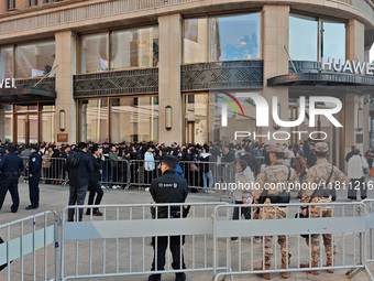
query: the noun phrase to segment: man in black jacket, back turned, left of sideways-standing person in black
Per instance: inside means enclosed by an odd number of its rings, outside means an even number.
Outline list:
[[[87,144],[79,142],[78,150],[67,159],[66,167],[69,173],[69,205],[84,205],[88,188],[89,174],[95,171],[94,161],[86,153]],[[68,210],[68,221],[74,221],[74,208]],[[81,221],[84,209],[79,209],[78,221]]]

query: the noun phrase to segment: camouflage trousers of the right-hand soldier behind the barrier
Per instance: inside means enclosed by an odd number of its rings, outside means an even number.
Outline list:
[[[315,197],[311,199],[311,203],[331,203],[329,198],[323,197]],[[332,206],[311,206],[310,207],[310,217],[331,217],[332,216]],[[332,235],[323,234],[323,246],[327,255],[327,259],[332,260]],[[306,238],[306,242],[309,247],[309,237]],[[320,256],[320,244],[321,244],[321,235],[311,235],[310,236],[310,247],[311,247],[311,261],[318,262]],[[333,244],[333,256],[337,255],[337,244]]]

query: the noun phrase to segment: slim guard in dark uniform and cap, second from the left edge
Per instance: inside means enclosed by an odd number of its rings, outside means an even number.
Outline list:
[[[42,172],[42,155],[38,153],[40,147],[31,147],[31,155],[29,159],[29,195],[30,203],[26,209],[38,207],[38,181]]]

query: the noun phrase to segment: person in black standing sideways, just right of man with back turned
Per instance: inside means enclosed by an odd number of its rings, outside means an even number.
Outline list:
[[[95,171],[89,174],[89,179],[88,179],[88,190],[89,190],[88,205],[94,204],[95,195],[96,195],[95,205],[100,205],[103,192],[99,184],[99,180],[100,180],[100,174],[102,173],[101,169],[102,169],[102,161],[105,160],[105,158],[100,153],[100,149],[97,145],[92,147],[90,151],[91,151]],[[91,209],[88,208],[86,212],[86,215],[90,215],[90,214],[91,214]],[[95,216],[102,216],[102,213],[99,210],[99,208],[94,208],[92,214]]]

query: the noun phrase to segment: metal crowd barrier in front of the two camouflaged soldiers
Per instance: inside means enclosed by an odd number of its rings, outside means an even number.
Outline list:
[[[314,212],[314,217],[300,218],[300,206],[307,205]],[[260,208],[260,219],[253,219],[254,208]],[[285,205],[222,205],[215,209],[215,280],[222,275],[253,274],[253,273],[278,273],[295,272],[306,270],[332,270],[349,269],[349,277],[355,275],[360,270],[365,270],[367,277],[373,280],[367,266],[365,252],[366,233],[366,208],[363,203],[318,203],[318,204],[286,204],[285,213],[278,207]],[[251,212],[251,220],[239,217],[231,219],[234,208],[239,208],[239,214],[243,210]],[[324,209],[330,208],[332,217],[326,217]],[[262,219],[267,214],[273,214],[274,219]],[[220,215],[220,213],[224,215]],[[326,209],[327,212],[327,209]],[[286,218],[282,218],[286,214]],[[317,215],[316,215],[317,214]],[[300,237],[306,235],[307,238]],[[331,235],[331,244],[323,240],[323,236]],[[226,238],[238,237],[238,245],[227,244],[226,255],[220,255],[220,245]],[[271,267],[265,267],[265,244],[261,246],[254,244],[254,238],[261,237],[262,241],[267,240],[272,245]],[[277,238],[277,239],[275,239]],[[280,238],[280,240],[279,240]],[[308,247],[314,239],[319,239],[320,247]],[[283,244],[285,247],[285,264],[279,262],[282,255],[277,247]],[[322,245],[332,248],[338,244],[337,252],[332,251],[332,267],[327,267],[326,253]],[[318,244],[317,244],[318,245]],[[326,250],[326,249],[324,249]],[[256,252],[260,251],[260,255]],[[312,255],[319,251],[319,262],[317,267],[310,268]],[[290,263],[287,264],[287,257],[292,253]],[[300,263],[309,263],[309,268],[301,268]],[[257,269],[255,270],[255,267]],[[260,270],[258,270],[260,269]],[[218,271],[224,272],[218,272]],[[320,272],[322,273],[322,272]]]

